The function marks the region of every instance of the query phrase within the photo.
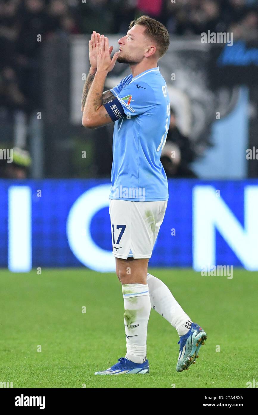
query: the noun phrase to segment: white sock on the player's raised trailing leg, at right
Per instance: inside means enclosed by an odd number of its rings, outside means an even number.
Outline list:
[[[169,288],[159,278],[147,273],[151,307],[162,315],[183,336],[191,326],[190,317],[183,311]]]

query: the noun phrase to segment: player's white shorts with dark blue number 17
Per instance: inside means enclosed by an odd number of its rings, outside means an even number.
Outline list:
[[[167,200],[133,202],[109,200],[113,255],[150,258],[166,212]]]

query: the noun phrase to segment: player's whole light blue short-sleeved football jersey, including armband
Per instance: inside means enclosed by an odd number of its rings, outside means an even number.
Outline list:
[[[105,104],[115,121],[110,199],[167,200],[168,183],[160,161],[170,122],[170,101],[159,66],[126,76]]]

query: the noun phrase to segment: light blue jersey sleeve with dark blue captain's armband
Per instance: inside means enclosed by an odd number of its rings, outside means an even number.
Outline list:
[[[145,82],[132,82],[116,93],[115,97],[113,101],[104,105],[113,121],[121,117],[151,113],[157,105],[153,89]]]

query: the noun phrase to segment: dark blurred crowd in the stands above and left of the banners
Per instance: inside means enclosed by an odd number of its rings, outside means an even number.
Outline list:
[[[131,20],[149,15],[171,35],[234,32],[258,39],[258,0],[0,0],[0,124],[15,111],[41,108],[43,41],[70,34],[124,34]],[[4,137],[0,129],[0,135]]]

